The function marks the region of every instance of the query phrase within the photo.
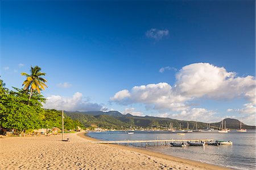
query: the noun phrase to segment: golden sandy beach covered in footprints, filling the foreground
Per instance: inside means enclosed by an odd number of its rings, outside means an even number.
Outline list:
[[[82,138],[81,138],[82,137]],[[227,169],[137,148],[93,144],[81,132],[0,139],[0,169]]]

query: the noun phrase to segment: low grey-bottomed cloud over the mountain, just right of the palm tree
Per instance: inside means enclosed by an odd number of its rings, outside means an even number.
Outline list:
[[[82,93],[76,92],[72,97],[51,95],[43,106],[45,109],[56,109],[65,111],[98,111],[106,110],[106,107],[98,103],[84,101]]]

